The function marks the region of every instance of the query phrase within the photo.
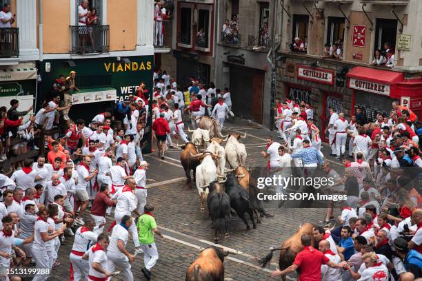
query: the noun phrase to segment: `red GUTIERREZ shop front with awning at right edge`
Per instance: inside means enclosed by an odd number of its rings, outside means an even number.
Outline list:
[[[389,116],[393,101],[408,101],[410,110],[422,116],[422,80],[407,80],[402,72],[354,67],[348,74],[348,87],[353,90],[352,112],[361,109],[367,122],[376,114]]]

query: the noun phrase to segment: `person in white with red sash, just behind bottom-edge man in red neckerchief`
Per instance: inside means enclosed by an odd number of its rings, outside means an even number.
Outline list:
[[[83,225],[83,227],[79,227],[77,231],[75,231],[72,251],[69,256],[69,260],[72,264],[74,280],[88,279],[90,264],[82,257],[86,252],[86,249],[89,249],[90,245],[97,242],[97,237],[101,233],[99,229],[101,229],[102,226],[103,225],[99,225],[99,227],[95,227],[94,220],[87,218],[85,225]]]

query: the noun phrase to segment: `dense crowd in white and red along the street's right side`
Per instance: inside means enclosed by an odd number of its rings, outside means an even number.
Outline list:
[[[270,159],[269,171],[288,177],[299,167],[310,176],[321,165],[334,179],[322,191],[345,194],[347,200],[329,201],[323,225],[314,226],[313,237],[302,236],[304,249],[294,263],[272,275],[300,269],[299,280],[421,278],[422,124],[416,114],[393,102],[390,116],[379,113],[376,121],[366,121],[357,109],[348,121],[343,112],[330,108],[325,136],[331,155],[342,161],[341,176],[321,154],[321,131],[308,103],[277,99],[274,111],[281,143],[267,139],[262,155]],[[340,214],[336,219],[335,208]]]

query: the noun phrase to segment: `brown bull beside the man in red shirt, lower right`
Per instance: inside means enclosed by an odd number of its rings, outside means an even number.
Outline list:
[[[312,245],[315,244],[312,229],[314,229],[314,225],[312,225],[312,223],[305,223],[305,225],[299,227],[299,229],[296,231],[296,233],[293,234],[293,236],[281,243],[280,248],[271,249],[270,253],[268,253],[265,258],[258,260],[259,264],[261,264],[262,267],[266,267],[271,262],[272,252],[280,251],[279,269],[287,269],[288,267],[290,267],[290,265],[293,264],[297,253],[303,250],[303,245],[301,243],[301,237],[303,236],[303,234],[308,234],[309,236],[311,236]],[[283,276],[283,280],[286,280],[285,276]]]

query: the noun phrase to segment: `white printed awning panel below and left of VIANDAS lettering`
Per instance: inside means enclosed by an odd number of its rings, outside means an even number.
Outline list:
[[[82,103],[101,103],[103,101],[116,101],[117,91],[112,87],[99,87],[92,89],[81,89],[80,92],[72,94],[74,105]]]

